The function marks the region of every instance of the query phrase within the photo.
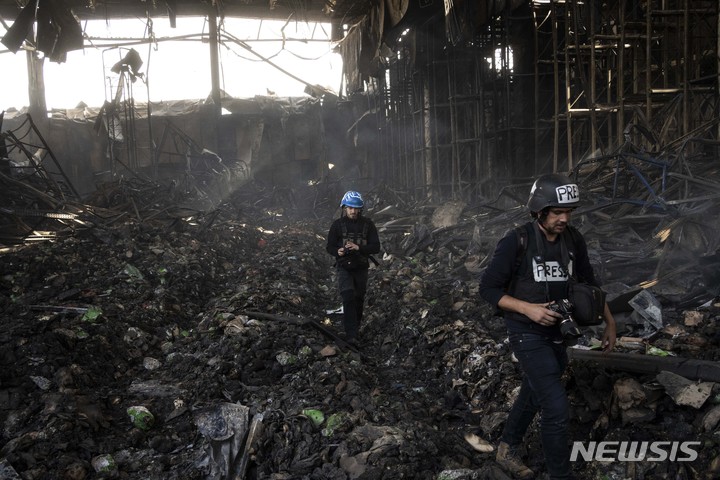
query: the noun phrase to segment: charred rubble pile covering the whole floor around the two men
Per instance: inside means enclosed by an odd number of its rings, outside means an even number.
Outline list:
[[[697,458],[576,471],[716,478],[717,172],[609,160],[579,166],[591,198],[574,221],[621,338],[600,357],[589,329],[572,349],[573,438],[692,441]],[[21,229],[33,241],[7,242],[0,267],[0,478],[507,478],[492,449],[520,372],[477,291],[527,188],[441,205],[368,192],[383,251],[359,349],[337,337],[325,191],[248,183],[202,211],[118,186],[43,217],[42,238]]]

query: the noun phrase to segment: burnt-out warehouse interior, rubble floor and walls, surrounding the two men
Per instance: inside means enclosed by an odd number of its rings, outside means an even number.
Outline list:
[[[210,88],[153,98],[183,17]],[[339,85],[230,18],[328,32]],[[480,276],[548,172],[617,328],[566,349],[577,478],[720,478],[719,30],[718,0],[0,0],[29,99],[0,108],[0,478],[509,480],[523,372]],[[230,94],[230,48],[303,94]],[[48,65],[97,49],[104,100],[49,107]],[[382,244],[359,343],[348,190]]]

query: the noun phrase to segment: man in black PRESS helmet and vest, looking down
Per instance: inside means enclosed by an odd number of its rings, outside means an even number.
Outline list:
[[[480,281],[480,295],[503,312],[510,347],[524,377],[502,433],[496,461],[515,478],[535,478],[522,458],[523,437],[540,412],[540,437],[551,479],[572,479],[568,445],[569,404],[561,377],[568,363],[561,313],[549,308],[567,298],[570,278],[598,285],[580,232],[570,226],[580,203],[578,186],[549,174],[532,186],[523,240],[510,230],[497,244]],[[599,285],[598,285],[599,286]],[[615,345],[615,320],[605,304],[604,351]]]

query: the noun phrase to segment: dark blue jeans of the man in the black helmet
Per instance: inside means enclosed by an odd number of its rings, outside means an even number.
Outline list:
[[[568,363],[565,346],[544,335],[511,333],[510,348],[525,375],[502,440],[511,446],[521,444],[535,414],[540,412],[540,437],[550,478],[573,478],[568,446],[569,403],[561,382]]]

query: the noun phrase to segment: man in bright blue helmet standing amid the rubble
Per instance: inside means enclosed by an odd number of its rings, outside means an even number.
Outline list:
[[[355,345],[362,322],[371,255],[380,252],[377,228],[362,215],[364,206],[359,192],[350,190],[343,195],[342,212],[330,226],[326,246],[327,252],[335,257],[345,339]]]

